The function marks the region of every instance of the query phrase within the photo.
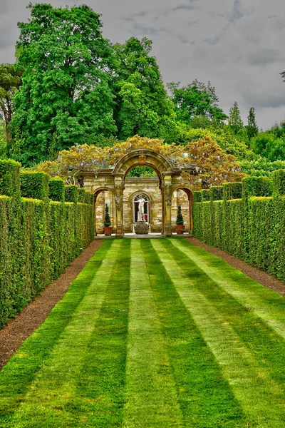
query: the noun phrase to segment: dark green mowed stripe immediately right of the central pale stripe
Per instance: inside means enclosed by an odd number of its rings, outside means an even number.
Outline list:
[[[150,240],[143,240],[185,428],[244,427],[242,408]],[[172,272],[175,276],[175,271]]]

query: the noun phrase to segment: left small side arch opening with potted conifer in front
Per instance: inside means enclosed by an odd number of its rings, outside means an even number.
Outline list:
[[[104,233],[104,220],[105,220],[105,205],[108,204],[110,220],[113,227],[113,233],[116,232],[116,210],[115,198],[113,192],[108,188],[101,188],[94,193],[94,229],[95,235],[102,235]]]

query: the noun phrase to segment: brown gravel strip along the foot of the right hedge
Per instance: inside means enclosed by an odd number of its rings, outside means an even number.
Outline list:
[[[238,270],[241,270],[245,275],[252,278],[252,280],[259,282],[259,284],[264,285],[264,287],[279,292],[279,294],[285,296],[284,282],[277,280],[275,277],[269,275],[269,273],[263,272],[262,270],[257,269],[257,267],[249,266],[244,261],[234,257],[234,255],[225,253],[224,251],[219,250],[219,248],[210,247],[196,238],[187,238],[187,240],[194,245],[204,248],[204,250],[209,251],[209,253],[217,255],[217,257],[229,263],[229,265],[236,267]]]

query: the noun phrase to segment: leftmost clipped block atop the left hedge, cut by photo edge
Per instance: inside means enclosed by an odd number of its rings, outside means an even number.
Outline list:
[[[0,195],[16,196],[20,194],[21,163],[11,159],[0,160]]]

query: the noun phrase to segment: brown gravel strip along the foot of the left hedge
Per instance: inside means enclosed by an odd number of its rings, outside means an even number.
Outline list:
[[[48,285],[36,300],[29,303],[21,314],[16,315],[6,327],[0,330],[0,370],[24,340],[46,320],[53,307],[68,290],[71,282],[75,280],[102,243],[103,240],[93,240],[81,255],[66,267],[65,272],[57,280]]]

